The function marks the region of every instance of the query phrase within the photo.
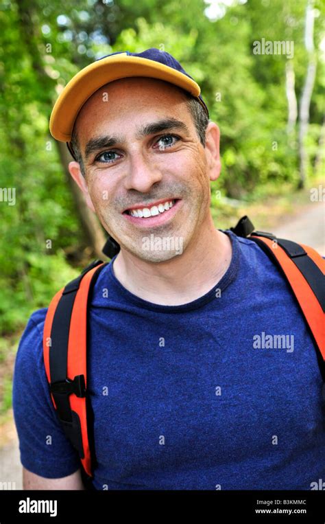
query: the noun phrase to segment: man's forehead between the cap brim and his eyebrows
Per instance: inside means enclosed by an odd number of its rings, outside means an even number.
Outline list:
[[[80,139],[110,124],[118,130],[147,117],[173,116],[191,126],[186,93],[156,78],[121,78],[104,85],[82,106],[75,122]]]

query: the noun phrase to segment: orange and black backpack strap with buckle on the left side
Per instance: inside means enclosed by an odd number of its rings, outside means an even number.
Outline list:
[[[43,334],[51,399],[65,435],[80,455],[82,479],[88,488],[92,486],[95,448],[87,391],[87,309],[88,297],[106,264],[95,260],[53,297]]]

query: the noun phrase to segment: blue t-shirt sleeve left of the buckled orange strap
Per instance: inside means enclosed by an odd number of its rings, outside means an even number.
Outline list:
[[[43,329],[47,310],[29,318],[14,364],[12,405],[19,436],[21,464],[48,479],[71,475],[80,459],[56,415],[43,359]]]

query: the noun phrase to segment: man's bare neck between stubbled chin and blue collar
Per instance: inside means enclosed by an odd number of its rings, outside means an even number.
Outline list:
[[[215,229],[211,218],[181,255],[153,263],[121,248],[113,271],[130,293],[153,304],[179,306],[208,293],[226,273],[231,256],[230,238]]]

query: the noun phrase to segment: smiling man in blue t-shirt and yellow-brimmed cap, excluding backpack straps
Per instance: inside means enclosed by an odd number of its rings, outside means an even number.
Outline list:
[[[274,264],[215,229],[219,128],[200,88],[158,49],[113,54],[69,82],[50,128],[121,248],[90,307],[95,488],[311,489],[325,473],[315,349]],[[46,311],[29,319],[14,371],[24,486],[82,489],[49,396]],[[263,333],[287,343],[258,346]]]

